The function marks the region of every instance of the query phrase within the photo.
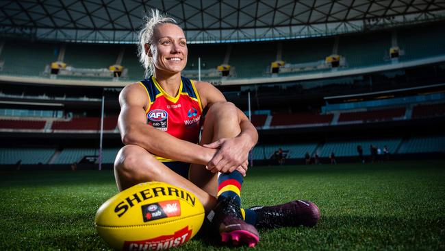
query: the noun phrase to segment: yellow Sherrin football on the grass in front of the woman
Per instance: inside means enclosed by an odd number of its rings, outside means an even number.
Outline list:
[[[192,239],[203,220],[204,207],[190,191],[145,182],[102,204],[94,224],[114,249],[165,250]]]

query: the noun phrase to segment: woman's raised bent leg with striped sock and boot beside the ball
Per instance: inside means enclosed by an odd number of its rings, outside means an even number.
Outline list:
[[[241,132],[238,108],[231,103],[218,103],[209,108],[203,125],[200,144],[218,139],[234,138]],[[255,246],[259,234],[255,226],[244,222],[240,208],[242,175],[238,171],[230,174],[212,174],[203,165],[190,166],[189,179],[207,193],[217,197],[218,204],[207,217],[222,241]]]

